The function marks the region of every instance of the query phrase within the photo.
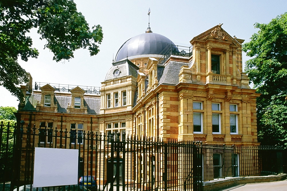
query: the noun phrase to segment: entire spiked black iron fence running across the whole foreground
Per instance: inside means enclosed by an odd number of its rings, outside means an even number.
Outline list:
[[[17,130],[0,125],[3,190],[8,182],[11,190],[32,186],[36,147],[79,150],[78,177],[94,176],[97,182],[90,190],[202,190],[205,180],[283,172],[278,146],[162,142],[125,133],[120,137],[120,133],[23,125],[24,121]],[[86,189],[79,183],[56,188]]]

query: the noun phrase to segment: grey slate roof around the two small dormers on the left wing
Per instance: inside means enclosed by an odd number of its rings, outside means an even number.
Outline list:
[[[36,111],[37,101],[41,102],[41,94],[32,93],[31,95],[26,97],[25,106],[22,110],[25,111]],[[55,95],[54,103],[57,102],[58,112],[66,113],[68,103],[71,106],[71,96],[66,95]],[[99,114],[100,113],[100,98],[86,98],[84,97],[84,105],[88,108],[88,114]]]

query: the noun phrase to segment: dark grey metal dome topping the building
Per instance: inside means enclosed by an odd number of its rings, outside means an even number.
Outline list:
[[[144,33],[127,40],[117,52],[115,61],[125,59],[127,56],[145,54],[163,55],[168,47],[174,43],[165,36],[156,33]]]

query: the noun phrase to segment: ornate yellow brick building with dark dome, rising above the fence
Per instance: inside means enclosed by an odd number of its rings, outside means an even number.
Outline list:
[[[39,128],[39,145],[54,148],[53,136],[68,134],[80,145],[84,132],[257,146],[260,94],[242,71],[243,42],[222,24],[193,37],[190,47],[148,28],[123,43],[99,88],[37,82],[32,89],[28,74],[18,118]]]

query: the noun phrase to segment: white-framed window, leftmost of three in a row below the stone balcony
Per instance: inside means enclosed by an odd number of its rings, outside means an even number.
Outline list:
[[[202,126],[202,102],[193,102],[193,133],[203,133]],[[197,112],[197,110],[199,112]]]

